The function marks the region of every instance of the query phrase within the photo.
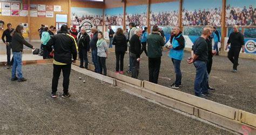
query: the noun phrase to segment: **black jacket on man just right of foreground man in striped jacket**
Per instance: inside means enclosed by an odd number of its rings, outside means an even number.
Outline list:
[[[90,36],[86,32],[84,35],[79,32],[77,36],[78,49],[90,51]]]

